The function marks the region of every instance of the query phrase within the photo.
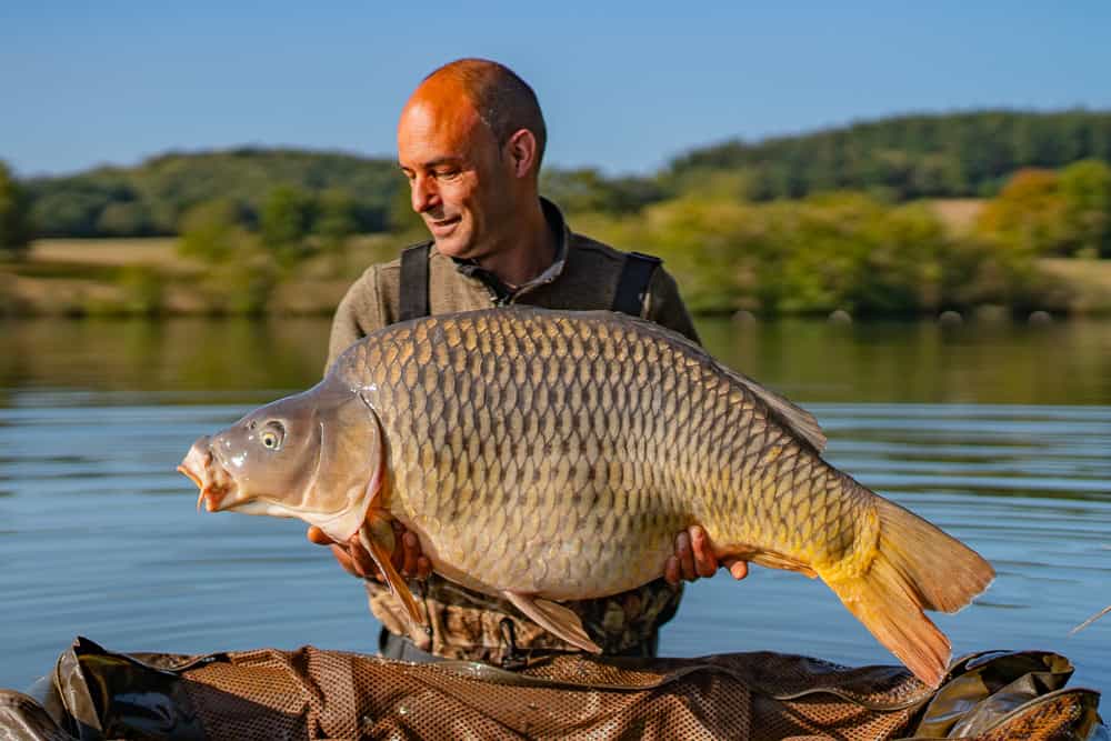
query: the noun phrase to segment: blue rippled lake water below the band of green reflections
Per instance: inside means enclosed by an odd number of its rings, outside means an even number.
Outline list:
[[[0,687],[26,687],[76,633],[132,650],[373,650],[359,584],[306,542],[301,523],[198,515],[173,472],[196,437],[280,394],[10,394],[0,409]],[[1059,650],[1078,679],[1111,688],[1111,620],[1065,640],[1111,602],[1111,408],[808,408],[832,463],[995,564],[985,595],[939,617],[958,653]],[[689,589],[663,634],[665,653],[750,649],[891,661],[820,584],[760,569],[741,585]]]

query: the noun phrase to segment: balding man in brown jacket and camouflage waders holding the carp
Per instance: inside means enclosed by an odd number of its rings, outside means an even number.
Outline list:
[[[501,64],[463,59],[424,79],[401,112],[398,160],[432,242],[372,266],[351,287],[332,323],[329,364],[351,342],[396,321],[511,303],[619,308],[698,340],[674,280],[658,261],[572,233],[559,209],[540,198],[546,137],[536,94]],[[332,543],[309,530],[312,542],[331,545],[343,568],[367,579],[371,610],[386,627],[383,655],[511,664],[524,652],[575,650],[509,603],[430,575],[416,535],[398,532],[396,564],[406,575],[427,578],[420,591],[430,633],[410,630],[357,539]],[[725,565],[737,579],[747,573],[743,561]],[[654,655],[657,630],[678,607],[680,580],[717,569],[695,527],[678,535],[665,580],[568,607],[607,653]]]

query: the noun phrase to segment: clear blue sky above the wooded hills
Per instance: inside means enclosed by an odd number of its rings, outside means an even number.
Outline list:
[[[1111,2],[1057,4],[4,0],[0,159],[29,176],[248,143],[392,157],[413,86],[464,56],[533,86],[548,162],[609,173],[890,113],[1111,109]]]

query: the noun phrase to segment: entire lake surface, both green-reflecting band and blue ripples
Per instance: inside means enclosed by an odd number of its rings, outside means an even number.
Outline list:
[[[700,323],[814,412],[827,458],[999,572],[939,625],[954,654],[1047,649],[1111,689],[1111,323]],[[116,650],[372,652],[360,584],[294,521],[198,514],[194,438],[317,380],[323,320],[0,322],[0,687],[77,634]],[[754,568],[688,588],[661,652],[893,659],[819,582]]]

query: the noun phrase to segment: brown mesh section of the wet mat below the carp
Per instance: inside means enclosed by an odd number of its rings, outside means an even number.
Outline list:
[[[304,648],[233,654],[184,678],[210,734],[238,739],[879,739],[931,694],[894,668],[770,653],[650,669],[568,655],[510,679]]]

